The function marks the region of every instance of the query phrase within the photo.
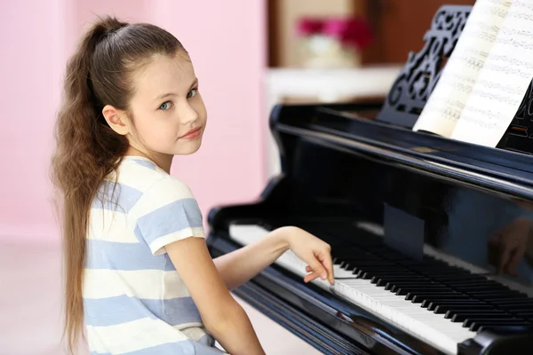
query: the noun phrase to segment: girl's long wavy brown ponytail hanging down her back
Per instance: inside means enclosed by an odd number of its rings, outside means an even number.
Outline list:
[[[83,336],[82,297],[85,238],[91,201],[128,141],[106,127],[98,112],[91,83],[91,58],[101,39],[120,23],[101,22],[84,37],[69,60],[65,101],[56,126],[57,149],[52,158],[53,182],[63,194],[62,226],[65,259],[65,334],[68,351],[76,353]]]

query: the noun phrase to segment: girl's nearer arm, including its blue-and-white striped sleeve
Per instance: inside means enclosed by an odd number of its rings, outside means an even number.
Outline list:
[[[164,252],[185,284],[207,331],[232,355],[263,355],[258,336],[220,278],[205,243],[202,213],[187,185],[165,176],[142,195],[130,216],[153,255]]]

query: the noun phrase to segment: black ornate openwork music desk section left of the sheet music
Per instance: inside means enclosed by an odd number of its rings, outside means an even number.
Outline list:
[[[424,36],[425,45],[410,52],[389,91],[378,120],[412,128],[441,76],[446,59],[465,28],[472,6],[442,6]]]

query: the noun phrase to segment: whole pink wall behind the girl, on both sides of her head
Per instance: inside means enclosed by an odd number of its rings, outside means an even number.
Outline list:
[[[176,158],[172,173],[191,186],[205,217],[212,206],[259,195],[265,185],[262,132],[267,127],[261,91],[264,0],[1,3],[0,240],[59,240],[47,176],[52,127],[67,55],[96,14],[153,22],[189,51],[209,122],[201,150]]]

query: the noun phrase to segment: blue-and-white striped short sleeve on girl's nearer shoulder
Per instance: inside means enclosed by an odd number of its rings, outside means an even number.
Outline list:
[[[176,177],[155,182],[132,210],[136,218],[135,234],[146,241],[154,255],[164,247],[189,237],[205,238],[203,217],[188,186]]]

